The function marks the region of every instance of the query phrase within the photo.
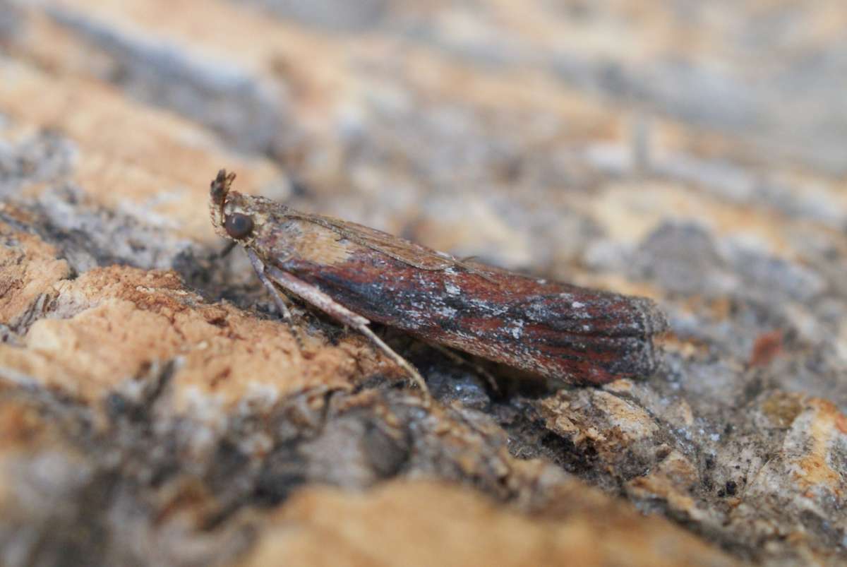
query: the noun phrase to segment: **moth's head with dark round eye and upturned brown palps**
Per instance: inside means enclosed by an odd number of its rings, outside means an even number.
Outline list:
[[[224,238],[246,243],[254,236],[257,225],[262,224],[254,218],[259,210],[257,203],[254,203],[257,197],[230,191],[233,180],[235,173],[227,173],[226,170],[218,172],[209,189],[209,212],[215,232]]]

